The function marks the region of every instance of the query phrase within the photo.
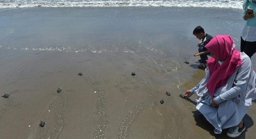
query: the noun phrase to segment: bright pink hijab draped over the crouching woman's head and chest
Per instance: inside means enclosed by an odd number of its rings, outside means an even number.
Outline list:
[[[210,79],[206,87],[211,96],[214,97],[215,89],[223,86],[227,82],[227,79],[236,71],[237,67],[242,65],[242,61],[240,52],[236,48],[233,48],[233,39],[227,35],[215,36],[205,48],[220,59],[220,61],[224,61],[220,65],[212,57],[207,60]]]

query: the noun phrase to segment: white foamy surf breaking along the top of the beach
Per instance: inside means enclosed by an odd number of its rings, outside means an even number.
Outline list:
[[[2,0],[0,8],[14,7],[121,7],[121,6],[164,6],[164,7],[218,7],[242,8],[242,0]]]

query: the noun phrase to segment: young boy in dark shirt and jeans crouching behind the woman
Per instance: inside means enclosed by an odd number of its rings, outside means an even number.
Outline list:
[[[204,47],[209,41],[213,38],[211,35],[204,33],[204,28],[201,26],[197,26],[194,31],[193,35],[196,36],[198,39],[202,39],[202,41],[197,43],[198,53],[195,53],[194,56],[200,56],[201,59],[198,61],[201,63],[198,65],[198,68],[206,68],[206,60],[208,60],[207,54],[209,51]]]

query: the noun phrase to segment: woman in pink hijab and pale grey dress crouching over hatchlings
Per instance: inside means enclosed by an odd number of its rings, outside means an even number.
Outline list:
[[[215,36],[206,46],[211,53],[207,60],[206,76],[183,95],[197,95],[197,106],[214,127],[214,133],[232,127],[227,136],[237,137],[245,130],[242,118],[251,101],[256,99],[256,74],[250,58],[234,48],[226,35]]]

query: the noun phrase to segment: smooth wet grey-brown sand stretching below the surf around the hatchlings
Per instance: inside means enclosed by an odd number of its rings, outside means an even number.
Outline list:
[[[201,25],[213,36],[229,34],[239,49],[242,11],[205,8],[206,21],[200,9],[1,10],[0,89],[11,95],[0,101],[1,136],[227,138],[224,132],[214,134],[196,112],[195,96],[185,100],[178,95],[205,75],[192,56],[199,41],[192,35],[194,27]],[[57,93],[58,88],[63,90]],[[239,138],[254,137],[254,105]],[[41,120],[46,126],[38,126]]]

